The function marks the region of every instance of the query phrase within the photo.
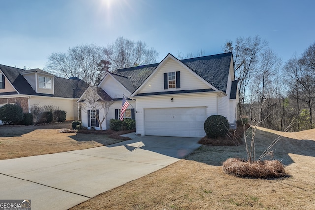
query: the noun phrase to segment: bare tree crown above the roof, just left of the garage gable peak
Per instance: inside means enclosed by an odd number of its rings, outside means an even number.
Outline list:
[[[148,48],[145,42],[134,42],[123,37],[108,45],[104,53],[106,60],[112,64],[111,70],[155,63],[158,58],[158,52]]]

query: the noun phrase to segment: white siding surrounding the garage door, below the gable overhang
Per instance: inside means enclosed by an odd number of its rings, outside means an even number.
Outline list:
[[[173,98],[173,102],[171,102]],[[148,108],[176,108],[176,107],[206,107],[207,117],[217,114],[216,95],[173,95],[163,97],[137,98],[136,100],[136,133],[145,135],[144,109]]]

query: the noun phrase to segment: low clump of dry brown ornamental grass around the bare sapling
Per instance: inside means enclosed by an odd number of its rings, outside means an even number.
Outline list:
[[[279,160],[245,161],[240,158],[229,158],[223,162],[222,169],[226,174],[249,178],[278,178],[285,176],[284,165]]]

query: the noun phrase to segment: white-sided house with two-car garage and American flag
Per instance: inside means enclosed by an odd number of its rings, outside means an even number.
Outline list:
[[[222,115],[236,127],[232,53],[183,60],[168,54],[160,63],[108,72],[97,88],[113,101],[103,129],[119,118],[123,95],[130,103],[124,117],[136,120],[139,135],[203,137],[204,121],[211,115]],[[81,115],[83,126],[90,128],[91,116]]]

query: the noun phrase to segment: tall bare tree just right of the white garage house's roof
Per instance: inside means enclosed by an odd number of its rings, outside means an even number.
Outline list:
[[[234,47],[232,41],[226,41],[222,47],[224,52],[233,52],[235,76],[238,80],[239,91],[239,113],[243,115],[243,106],[246,99],[246,90],[252,74],[257,71],[259,64],[259,53],[268,45],[267,41],[261,40],[259,36],[238,37]]]

